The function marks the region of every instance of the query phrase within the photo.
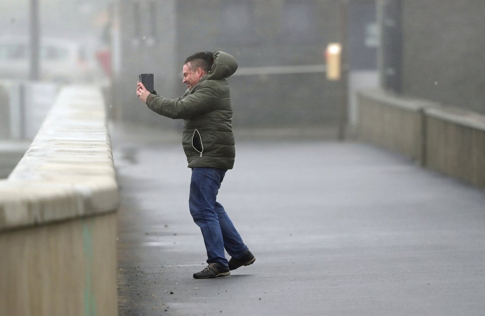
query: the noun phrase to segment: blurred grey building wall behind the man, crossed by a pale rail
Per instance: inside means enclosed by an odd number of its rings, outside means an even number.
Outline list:
[[[327,81],[323,71],[241,74],[253,67],[323,65],[326,45],[341,41],[339,1],[177,1],[177,13],[178,71],[200,50],[224,50],[238,60],[228,79],[235,128],[338,124],[342,85]],[[179,84],[175,95],[184,90]]]

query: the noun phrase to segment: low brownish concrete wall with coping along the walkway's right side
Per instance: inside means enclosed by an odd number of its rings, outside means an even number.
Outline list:
[[[485,187],[485,116],[383,90],[358,93],[359,138]]]

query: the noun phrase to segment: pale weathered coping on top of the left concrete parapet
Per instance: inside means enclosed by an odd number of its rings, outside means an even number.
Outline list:
[[[64,87],[23,158],[0,181],[0,231],[114,212],[118,203],[102,93]]]

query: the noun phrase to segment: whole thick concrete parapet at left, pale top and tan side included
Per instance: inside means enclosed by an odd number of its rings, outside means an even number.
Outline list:
[[[101,91],[63,88],[0,181],[0,315],[117,315],[118,201]]]

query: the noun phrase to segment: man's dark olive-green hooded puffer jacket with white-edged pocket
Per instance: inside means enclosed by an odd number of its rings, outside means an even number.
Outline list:
[[[238,63],[218,51],[208,75],[177,99],[150,94],[148,107],[163,116],[183,119],[182,146],[189,168],[232,169],[236,150],[232,131],[233,110],[225,78],[236,72]]]

